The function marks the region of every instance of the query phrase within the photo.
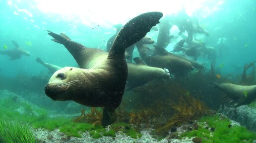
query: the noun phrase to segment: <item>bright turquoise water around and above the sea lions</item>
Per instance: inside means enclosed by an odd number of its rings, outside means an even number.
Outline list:
[[[126,24],[131,18],[149,11],[160,11],[164,16],[176,14],[183,6],[188,11],[193,6],[192,14],[196,15],[200,25],[210,35],[207,37],[198,34],[196,38],[216,49],[215,73],[220,75],[221,79],[225,78],[225,81],[239,83],[244,64],[256,61],[256,0],[198,0],[198,3],[194,2],[192,5],[190,5],[192,2],[180,1],[183,3],[175,0],[143,0],[139,3],[133,1],[127,4],[128,1],[119,3],[111,0],[108,2],[74,0],[73,3],[69,1],[69,5],[64,5],[67,2],[62,0],[52,2],[50,0],[46,2],[0,0],[0,51],[13,49],[11,40],[14,40],[31,54],[29,57],[23,55],[16,60],[9,60],[8,56],[0,55],[0,78],[2,79],[0,90],[7,89],[10,92],[26,95],[25,98],[30,102],[53,109],[51,99],[44,94],[45,81],[51,77],[51,74],[35,61],[36,58],[39,57],[44,62],[60,67],[78,67],[78,65],[62,44],[51,41],[52,37],[48,35],[47,30],[57,34],[64,32],[73,41],[82,43],[86,47],[106,50],[108,39],[116,33],[113,25]],[[171,35],[175,34],[177,29],[173,28]],[[155,41],[157,35],[157,31],[150,31],[147,34]],[[218,44],[220,39],[225,39],[221,52]],[[166,49],[173,50],[176,42],[178,41],[172,40]],[[152,45],[149,46],[152,47]],[[137,56],[139,54],[135,49],[133,57]],[[205,63],[206,72],[209,72],[210,60],[199,57],[197,62]],[[251,69],[247,71],[248,74]],[[34,80],[30,78],[34,76],[45,80],[33,82]],[[254,84],[256,84],[255,81]],[[215,99],[212,91],[205,91],[207,89],[203,87],[200,89],[193,89],[193,85],[185,85],[185,87],[192,94],[202,96],[201,100],[205,100],[204,102],[209,104],[207,106],[215,110],[222,104],[215,102],[223,102],[221,98]],[[42,99],[41,103],[33,101],[37,97],[29,97],[34,93]],[[131,95],[130,92],[126,94]],[[211,97],[207,97],[208,95]],[[128,101],[132,101],[132,98],[124,97]],[[48,105],[51,106],[48,107]],[[136,105],[128,105],[128,107],[133,108],[132,106]]]

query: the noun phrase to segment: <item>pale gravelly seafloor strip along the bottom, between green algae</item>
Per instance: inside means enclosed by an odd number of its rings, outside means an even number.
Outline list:
[[[152,138],[149,130],[141,131],[142,137],[138,139],[130,138],[125,134],[116,133],[116,137],[102,136],[99,139],[93,139],[89,132],[82,133],[81,138],[67,138],[59,129],[48,131],[46,129],[33,129],[33,133],[40,140],[40,143],[193,143],[192,139],[184,138],[183,140],[165,138],[158,142]]]

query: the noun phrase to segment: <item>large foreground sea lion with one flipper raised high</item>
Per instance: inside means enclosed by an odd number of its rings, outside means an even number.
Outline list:
[[[128,76],[125,50],[144,37],[162,16],[161,12],[148,12],[131,19],[116,36],[108,56],[99,55],[100,61],[87,55],[87,51],[93,54],[99,52],[98,49],[84,48],[64,36],[49,32],[54,41],[64,44],[69,52],[71,47],[78,49],[71,50],[73,56],[82,51],[83,56],[74,58],[80,67],[88,68],[65,67],[55,72],[45,87],[46,95],[53,100],[73,100],[85,106],[104,107],[102,125],[113,123]]]

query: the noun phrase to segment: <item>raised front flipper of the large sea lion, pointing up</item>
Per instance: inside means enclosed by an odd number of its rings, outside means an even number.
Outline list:
[[[146,36],[162,16],[161,12],[147,12],[131,19],[116,36],[108,58],[124,57],[125,49]]]

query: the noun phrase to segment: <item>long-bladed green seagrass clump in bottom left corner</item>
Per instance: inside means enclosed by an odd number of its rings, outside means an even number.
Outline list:
[[[36,140],[27,124],[0,118],[0,143],[36,143]]]

